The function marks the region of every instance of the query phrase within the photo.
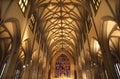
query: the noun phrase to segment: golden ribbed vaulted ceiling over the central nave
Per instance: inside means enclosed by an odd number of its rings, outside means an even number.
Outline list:
[[[42,40],[50,53],[64,49],[74,54],[86,26],[86,0],[36,0],[34,6]]]

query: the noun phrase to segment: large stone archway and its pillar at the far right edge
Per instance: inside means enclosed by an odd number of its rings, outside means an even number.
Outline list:
[[[101,22],[99,43],[103,54],[105,70],[107,71],[108,78],[117,79],[117,74],[113,73],[113,71],[116,72],[114,67],[116,57],[114,56],[119,53],[113,52],[113,49],[116,48],[116,46],[113,45],[115,45],[116,42],[116,44],[118,44],[117,48],[119,47],[119,27],[115,18],[110,16],[103,17]]]

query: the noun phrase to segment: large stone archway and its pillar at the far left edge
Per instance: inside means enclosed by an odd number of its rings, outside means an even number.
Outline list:
[[[14,66],[16,65],[15,63],[17,60],[20,44],[21,31],[19,21],[16,18],[6,19],[0,24],[0,46],[2,46],[0,49],[2,56],[0,65],[2,67],[1,73],[3,72],[0,78],[8,77],[6,76],[7,74],[10,74],[10,77],[13,77],[15,68]],[[8,71],[10,71],[9,67],[11,68],[12,73],[8,73]]]

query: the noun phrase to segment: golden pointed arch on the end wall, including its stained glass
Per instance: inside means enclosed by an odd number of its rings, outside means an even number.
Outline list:
[[[72,56],[65,51],[59,51],[53,56],[50,67],[50,77],[52,79],[62,77],[74,79],[74,61]]]

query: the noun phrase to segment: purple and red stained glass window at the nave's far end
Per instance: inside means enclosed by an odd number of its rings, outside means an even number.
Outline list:
[[[55,77],[70,77],[70,61],[66,55],[60,55],[55,64]]]

